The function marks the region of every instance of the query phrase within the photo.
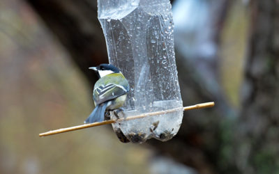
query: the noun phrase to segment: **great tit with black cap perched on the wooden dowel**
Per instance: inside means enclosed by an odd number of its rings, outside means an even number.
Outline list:
[[[96,71],[99,79],[93,88],[96,107],[84,123],[102,122],[105,111],[119,109],[125,103],[130,86],[122,72],[114,65],[100,64],[89,69]]]

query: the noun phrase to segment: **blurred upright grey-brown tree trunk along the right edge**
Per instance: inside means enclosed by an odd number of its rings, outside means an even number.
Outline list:
[[[235,164],[241,173],[278,173],[279,1],[255,0],[251,10]]]

